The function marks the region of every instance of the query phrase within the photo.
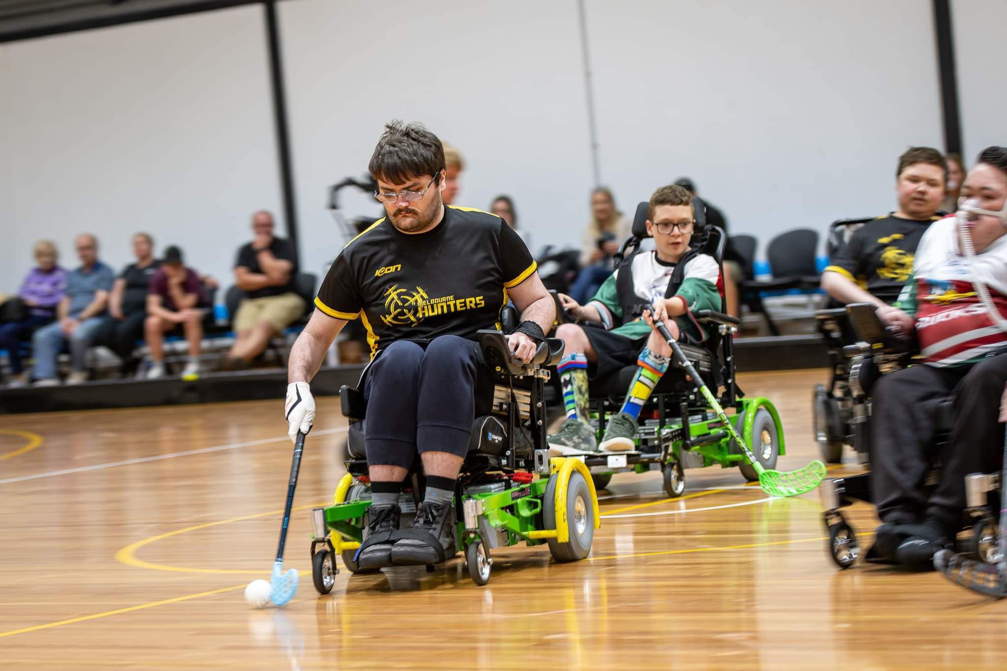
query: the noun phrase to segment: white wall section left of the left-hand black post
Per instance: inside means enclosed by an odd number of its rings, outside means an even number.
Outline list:
[[[253,209],[279,207],[262,8],[0,45],[0,291],[40,237],[117,271],[134,231],[225,283]]]

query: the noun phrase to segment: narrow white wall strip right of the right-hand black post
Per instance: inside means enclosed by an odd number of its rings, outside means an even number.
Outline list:
[[[1007,3],[955,0],[952,10],[962,158],[972,166],[983,149],[1007,146],[1007,89],[1002,74]]]

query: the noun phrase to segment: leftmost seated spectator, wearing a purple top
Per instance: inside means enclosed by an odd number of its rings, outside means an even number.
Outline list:
[[[56,265],[56,245],[49,240],[35,242],[35,263],[21,283],[17,297],[3,304],[0,314],[0,349],[7,350],[12,378],[9,386],[24,386],[27,375],[21,361],[21,342],[37,329],[51,324],[56,306],[63,297],[66,271]]]

